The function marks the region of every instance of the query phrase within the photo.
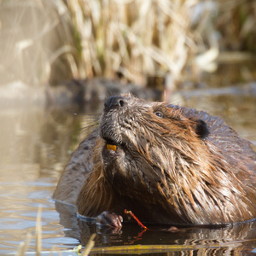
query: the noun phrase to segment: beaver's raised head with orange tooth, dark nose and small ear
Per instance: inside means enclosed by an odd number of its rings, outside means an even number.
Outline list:
[[[131,187],[146,184],[149,191],[169,187],[185,161],[198,164],[196,148],[208,134],[203,120],[186,118],[166,103],[110,97],[100,120],[104,176],[109,183],[119,178]]]

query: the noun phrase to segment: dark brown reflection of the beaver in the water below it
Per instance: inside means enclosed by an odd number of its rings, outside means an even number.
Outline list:
[[[188,255],[192,251],[197,251],[198,255],[238,253],[256,245],[256,222],[214,228],[181,228],[178,232],[161,231],[164,226],[153,224],[148,225],[150,230],[143,231],[137,224],[125,223],[122,230],[113,230],[97,226],[95,221],[77,218],[74,207],[59,202],[55,203],[55,207],[60,212],[60,223],[66,228],[65,236],[78,239],[82,245],[87,244],[93,233],[97,234],[96,247],[171,244],[177,246],[177,251],[181,249],[178,246],[183,245],[182,251],[184,253],[186,249]]]

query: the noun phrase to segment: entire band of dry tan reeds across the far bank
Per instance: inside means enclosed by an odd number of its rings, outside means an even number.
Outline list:
[[[196,79],[215,70],[219,49],[255,53],[254,2],[0,0],[0,84]]]

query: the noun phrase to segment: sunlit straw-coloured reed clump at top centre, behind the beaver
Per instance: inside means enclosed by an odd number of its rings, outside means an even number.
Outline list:
[[[191,29],[191,1],[67,0],[82,77],[122,73],[142,83],[171,72],[180,79],[200,37]]]

